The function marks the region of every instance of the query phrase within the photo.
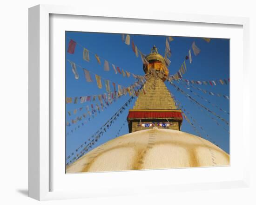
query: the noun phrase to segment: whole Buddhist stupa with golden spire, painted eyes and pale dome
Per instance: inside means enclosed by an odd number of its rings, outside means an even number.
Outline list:
[[[71,165],[67,173],[228,166],[229,154],[210,141],[181,131],[177,109],[164,81],[165,58],[154,46],[145,57],[143,85],[127,121],[129,134],[94,148]]]

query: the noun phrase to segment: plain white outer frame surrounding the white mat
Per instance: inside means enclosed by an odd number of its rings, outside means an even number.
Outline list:
[[[132,12],[125,10],[101,10],[71,7],[38,5],[29,8],[29,197],[37,200],[74,199],[97,196],[118,196],[128,194],[142,194],[155,192],[172,192],[202,189],[219,189],[249,186],[249,129],[243,129],[244,164],[243,176],[235,180],[216,182],[200,182],[188,184],[152,184],[146,186],[118,187],[109,185],[106,192],[92,190],[51,191],[51,140],[50,140],[50,15],[75,15],[90,17],[110,17],[125,19],[145,19],[158,21],[175,21],[188,23],[205,23],[220,25],[243,26],[243,110],[249,107],[249,85],[246,78],[249,75],[249,19],[241,17],[223,17],[195,14],[175,14],[161,12]],[[233,48],[234,49],[234,48]],[[240,109],[241,110],[241,109]],[[245,119],[249,120],[249,112],[243,113],[243,127]],[[231,113],[232,115],[232,113]],[[247,158],[246,158],[247,156]],[[232,157],[232,156],[231,156]],[[232,164],[231,164],[232,166]],[[160,172],[155,170],[155,172]],[[164,172],[168,172],[165,170]],[[135,172],[134,172],[135,173]],[[96,173],[95,173],[96,174]],[[117,174],[117,173],[116,173]],[[123,174],[125,174],[123,172]],[[123,175],[122,175],[123,176]],[[103,179],[103,178],[102,178]],[[105,187],[106,188],[106,187]]]

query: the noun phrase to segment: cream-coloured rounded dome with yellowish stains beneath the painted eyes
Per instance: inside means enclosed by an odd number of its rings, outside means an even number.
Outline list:
[[[94,148],[67,173],[229,166],[229,154],[201,137],[172,129],[122,135]]]

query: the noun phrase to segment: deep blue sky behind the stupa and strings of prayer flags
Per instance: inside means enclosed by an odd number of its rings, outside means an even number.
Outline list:
[[[134,40],[135,45],[141,50],[142,53],[148,54],[153,47],[156,45],[160,54],[164,55],[165,50],[165,36],[151,36],[151,35],[133,35],[130,34],[131,39]],[[67,52],[67,45],[69,40],[73,39],[77,44],[75,47],[74,54]],[[229,78],[229,39],[217,39],[212,38],[210,43],[207,43],[202,38],[193,38],[193,37],[175,37],[174,40],[170,42],[170,48],[172,51],[172,56],[169,58],[171,64],[169,66],[170,74],[175,74],[179,70],[182,62],[185,57],[188,55],[189,48],[191,47],[193,41],[201,49],[201,53],[195,56],[192,53],[192,64],[189,64],[189,60],[186,61],[187,72],[183,75],[183,78],[189,80],[200,80],[200,81],[209,81],[216,79],[227,79]],[[90,62],[83,60],[82,53],[83,47],[91,51],[90,53]],[[192,50],[191,50],[192,51]],[[101,65],[99,65],[94,57],[96,53],[101,58]],[[104,60],[106,59],[109,62],[109,71],[104,71]],[[104,81],[102,80],[102,89],[97,87],[94,75],[91,75],[94,82],[88,83],[85,80],[83,70],[81,67],[77,66],[79,73],[79,79],[74,78],[74,74],[71,70],[71,66],[67,60],[71,60],[76,64],[85,68],[105,79],[120,84],[122,86],[128,86],[135,82],[135,79],[131,77],[122,77],[120,74],[115,74],[114,70],[111,67],[110,63],[119,66],[121,69],[127,70],[137,75],[144,75],[142,70],[141,58],[136,58],[135,53],[132,51],[131,45],[126,45],[121,41],[121,34],[112,34],[112,33],[91,33],[91,32],[66,32],[66,96],[75,97],[75,96],[93,96],[106,93]],[[181,83],[175,83],[177,86],[182,88],[182,90],[189,93],[184,85]],[[175,96],[175,98],[181,102],[182,106],[189,112],[193,119],[202,126],[200,129],[198,126],[195,126],[201,133],[202,137],[206,138],[204,133],[207,133],[215,143],[221,147],[224,151],[229,153],[229,134],[223,129],[229,129],[229,127],[223,123],[221,120],[216,118],[214,115],[211,115],[209,112],[201,111],[195,104],[191,103],[186,97],[184,97],[180,92],[177,92],[170,83],[166,82],[166,85],[170,92]],[[193,86],[209,90],[212,92],[220,93],[223,95],[229,96],[229,83],[228,85],[196,85]],[[111,90],[113,91],[112,85],[110,85]],[[224,99],[224,97],[210,96],[208,94],[202,93],[200,90],[193,90],[195,93],[206,98],[211,103],[216,104],[218,107],[229,112],[229,100]],[[213,107],[210,103],[205,102],[200,97],[189,93],[190,96],[195,98],[198,102],[202,103],[208,109],[214,111],[217,115],[220,115],[226,121],[229,122],[229,115],[222,112],[216,107]],[[71,129],[81,124],[81,122],[66,127],[66,156],[75,151],[77,147],[87,141],[91,135],[94,134],[101,126],[110,118],[115,112],[128,101],[130,97],[122,96],[120,99],[117,99],[116,102],[113,102],[107,109],[101,113],[98,113],[97,116],[77,128],[73,133]],[[98,101],[97,101],[98,102]],[[94,144],[92,148],[95,148],[106,141],[109,141],[115,138],[118,130],[120,135],[128,133],[128,125],[126,117],[128,115],[128,109],[132,109],[135,100],[128,106],[128,108],[123,112],[114,125],[111,126],[106,133],[101,137],[101,139]],[[85,102],[81,104],[68,103],[66,104],[66,121],[70,122],[71,119],[81,116],[85,112],[86,105],[90,105],[91,102]],[[99,103],[100,104],[100,103]],[[81,111],[78,111],[76,114],[69,116],[67,111],[73,111],[74,109],[83,108]],[[187,115],[188,117],[190,115]],[[220,124],[216,125],[216,122],[213,121],[210,116],[213,116]],[[191,119],[190,119],[191,120]],[[191,120],[192,121],[192,120]],[[82,121],[84,122],[84,120]],[[123,126],[123,123],[125,125]],[[194,123],[196,124],[196,123]],[[182,131],[197,135],[194,129],[183,119]],[[209,140],[209,139],[208,139]],[[74,152],[75,153],[75,152]]]

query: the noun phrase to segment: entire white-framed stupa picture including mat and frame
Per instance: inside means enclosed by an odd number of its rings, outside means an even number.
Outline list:
[[[248,30],[246,18],[30,8],[29,196],[248,186]]]

